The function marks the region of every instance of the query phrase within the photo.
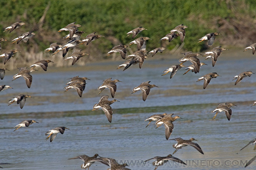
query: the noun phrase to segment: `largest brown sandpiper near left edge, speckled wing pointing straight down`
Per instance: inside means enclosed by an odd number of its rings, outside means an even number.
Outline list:
[[[32,76],[30,75],[30,73],[37,70],[35,70],[34,68],[27,70],[27,67],[19,67],[18,69],[19,69],[19,73],[12,77],[13,80],[18,79],[19,77],[23,77],[24,80],[26,81],[27,87],[30,88],[32,83]]]

